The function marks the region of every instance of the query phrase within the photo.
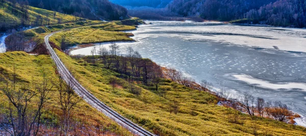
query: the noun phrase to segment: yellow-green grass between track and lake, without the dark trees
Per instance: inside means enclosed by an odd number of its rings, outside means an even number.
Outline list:
[[[246,114],[216,105],[216,98],[165,80],[160,89],[163,97],[155,92],[142,89],[140,96],[128,92],[128,83],[121,79],[123,89],[112,91],[108,80],[117,73],[91,66],[82,60],[73,60],[56,50],[63,63],[80,83],[101,101],[114,108],[123,116],[144,128],[160,135],[305,135],[306,128],[278,122],[271,119],[250,117]],[[169,113],[169,105],[180,103],[178,114]],[[237,116],[243,124],[235,124]]]

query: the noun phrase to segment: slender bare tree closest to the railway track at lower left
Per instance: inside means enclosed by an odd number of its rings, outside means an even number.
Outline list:
[[[79,103],[82,98],[78,96],[73,91],[74,84],[71,79],[67,81],[67,84],[65,84],[64,80],[59,77],[59,82],[57,85],[57,90],[59,92],[59,104],[61,108],[61,133],[63,132],[63,135],[68,135],[69,128],[70,128],[70,117],[72,114],[72,109],[77,103]]]

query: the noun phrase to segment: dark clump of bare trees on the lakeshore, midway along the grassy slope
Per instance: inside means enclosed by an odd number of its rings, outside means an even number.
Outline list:
[[[84,58],[88,63],[103,64],[104,68],[120,73],[126,81],[142,81],[144,85],[154,85],[158,91],[163,78],[162,68],[149,59],[143,59],[140,53],[132,47],[127,48],[127,54],[119,52],[120,46],[112,42],[109,49],[100,45],[93,46],[91,57]]]

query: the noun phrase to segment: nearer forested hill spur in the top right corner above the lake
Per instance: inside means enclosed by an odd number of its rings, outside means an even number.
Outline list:
[[[255,23],[305,28],[306,1],[280,0],[260,7],[258,10],[252,9],[245,14],[245,17]]]

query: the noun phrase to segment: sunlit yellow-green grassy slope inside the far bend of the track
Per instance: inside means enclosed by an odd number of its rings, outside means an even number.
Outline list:
[[[63,37],[66,38],[66,42],[69,46],[73,46],[75,44],[110,41],[133,41],[133,39],[129,38],[129,36],[133,36],[133,34],[116,31],[127,31],[135,29],[135,26],[121,25],[117,24],[117,22],[109,22],[100,25],[87,26],[60,32],[50,37],[50,41],[59,47],[61,46],[60,44]]]

